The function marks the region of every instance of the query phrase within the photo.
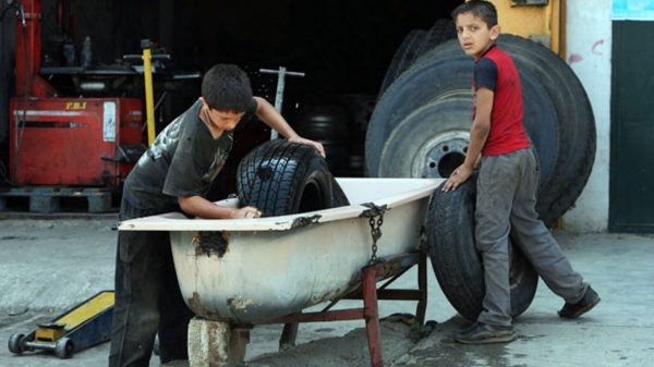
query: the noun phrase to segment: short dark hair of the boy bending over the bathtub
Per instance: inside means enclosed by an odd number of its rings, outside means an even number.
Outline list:
[[[243,112],[252,101],[250,78],[237,65],[216,64],[202,79],[202,97],[215,110]]]

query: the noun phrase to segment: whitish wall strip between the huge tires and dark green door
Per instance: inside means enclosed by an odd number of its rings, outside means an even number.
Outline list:
[[[564,217],[574,232],[604,231],[608,225],[608,168],[610,132],[610,0],[567,1],[568,64],[583,84],[597,126],[593,171],[577,206]]]

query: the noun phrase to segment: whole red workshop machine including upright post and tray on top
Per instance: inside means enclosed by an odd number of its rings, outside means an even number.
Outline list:
[[[61,97],[40,76],[41,1],[24,0],[21,7],[24,22],[16,25],[15,97],[10,101],[12,183],[119,186],[145,150],[141,146],[141,100]],[[75,78],[116,73],[76,66],[49,69]],[[120,71],[119,76],[124,73]],[[107,85],[98,79],[82,84],[95,94]]]

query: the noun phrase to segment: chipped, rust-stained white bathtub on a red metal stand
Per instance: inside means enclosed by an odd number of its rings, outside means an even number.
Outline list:
[[[426,286],[419,281],[419,291],[384,293],[374,288],[375,281],[421,262],[409,255],[419,249],[429,195],[444,180],[337,181],[352,205],[247,220],[187,219],[182,213],[166,213],[121,222],[119,230],[170,232],[180,289],[198,316],[196,322],[218,321],[240,328],[365,318],[371,358],[374,366],[380,366],[376,298],[423,299]],[[238,207],[239,200],[218,205]],[[366,265],[370,267],[362,271]],[[419,273],[426,271],[424,262],[422,269]],[[322,302],[343,298],[362,284],[363,309],[298,315]],[[417,316],[423,318],[424,302],[419,306]],[[289,315],[293,316],[284,318]],[[213,325],[198,328],[216,330]],[[289,344],[293,335],[284,338],[281,344]],[[198,344],[190,342],[190,352]]]

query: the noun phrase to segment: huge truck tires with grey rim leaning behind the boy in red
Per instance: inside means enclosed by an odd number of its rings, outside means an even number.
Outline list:
[[[537,211],[550,225],[581,194],[595,156],[595,124],[572,70],[549,49],[502,35],[522,82],[524,125],[540,156]],[[472,123],[472,58],[457,40],[415,60],[379,97],[366,134],[371,176],[447,178],[462,161]]]

